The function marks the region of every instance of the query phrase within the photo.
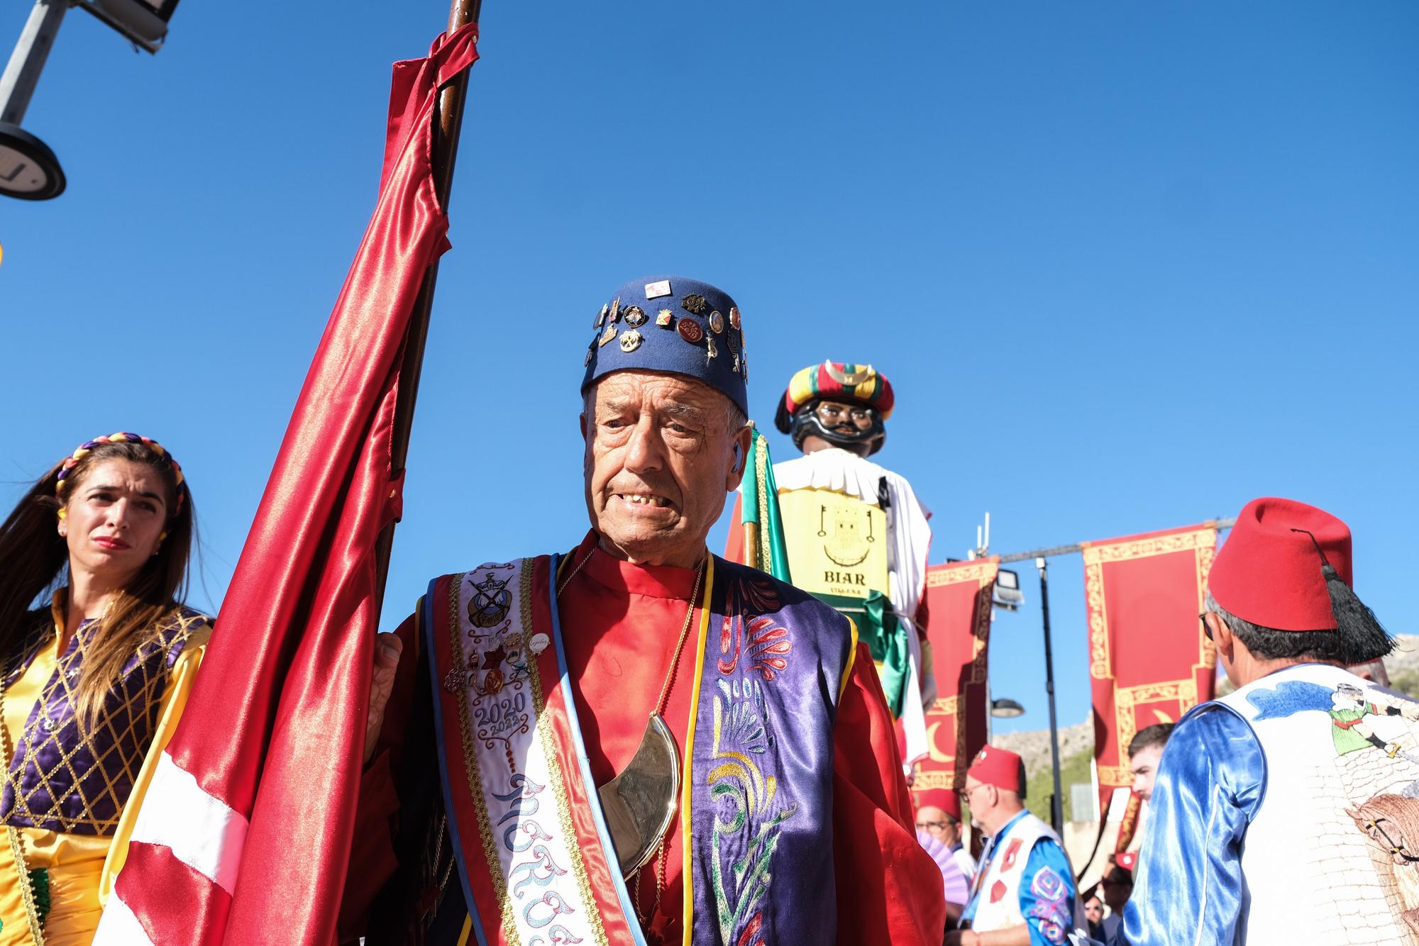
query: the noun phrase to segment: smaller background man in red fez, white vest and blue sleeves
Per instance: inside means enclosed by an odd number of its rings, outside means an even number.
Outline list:
[[[1069,855],[1023,798],[1020,757],[982,749],[966,770],[961,800],[986,841],[961,929],[946,933],[946,946],[1059,946],[1088,929]]]

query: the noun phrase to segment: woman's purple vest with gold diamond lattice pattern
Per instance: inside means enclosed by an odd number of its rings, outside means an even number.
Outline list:
[[[48,608],[33,611],[31,618],[34,630],[21,642],[18,660],[9,662],[6,689],[54,633]],[[112,834],[158,728],[167,674],[192,633],[209,623],[197,611],[179,608],[158,637],[123,664],[92,730],[81,729],[72,703],[84,648],[94,633],[92,621],[81,624],[14,746],[0,791],[0,823],[67,834]]]

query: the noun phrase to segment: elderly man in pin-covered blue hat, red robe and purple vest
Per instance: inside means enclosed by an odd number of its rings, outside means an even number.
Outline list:
[[[749,435],[738,306],[648,277],[593,323],[590,530],[436,579],[377,648],[342,936],[935,946],[866,647],[705,547]]]

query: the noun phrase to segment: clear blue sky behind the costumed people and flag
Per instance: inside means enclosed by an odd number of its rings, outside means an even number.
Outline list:
[[[70,13],[24,122],[68,191],[0,204],[6,506],[81,440],[156,437],[220,603],[372,210],[389,64],[446,16],[189,0],[149,57]],[[988,509],[1012,552],[1286,495],[1419,631],[1415,4],[487,0],[482,35],[386,625],[431,574],[582,536],[589,316],[663,271],[739,299],[761,425],[810,362],[891,377],[878,458],[934,560]],[[1033,729],[1022,579],[992,668]],[[1051,579],[1067,723],[1077,556]]]

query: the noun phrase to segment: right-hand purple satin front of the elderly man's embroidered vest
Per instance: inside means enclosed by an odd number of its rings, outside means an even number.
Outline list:
[[[691,779],[694,943],[834,943],[833,726],[847,621],[715,559]]]

